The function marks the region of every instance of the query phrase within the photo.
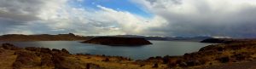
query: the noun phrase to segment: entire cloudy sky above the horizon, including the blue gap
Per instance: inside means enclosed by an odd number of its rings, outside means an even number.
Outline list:
[[[0,34],[256,37],[256,0],[0,0]]]

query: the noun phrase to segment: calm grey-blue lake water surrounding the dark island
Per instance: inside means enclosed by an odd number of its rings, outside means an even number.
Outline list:
[[[204,46],[212,44],[183,41],[150,41],[154,44],[139,47],[113,47],[79,42],[80,41],[37,41],[0,43],[13,43],[19,47],[67,49],[72,54],[118,55],[130,57],[134,60],[145,60],[151,56],[184,55],[185,53],[195,52]]]

